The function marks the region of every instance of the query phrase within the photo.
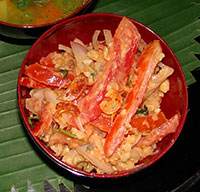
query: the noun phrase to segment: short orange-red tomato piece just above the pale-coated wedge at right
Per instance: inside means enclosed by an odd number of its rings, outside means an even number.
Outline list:
[[[158,114],[134,115],[130,124],[132,127],[137,128],[140,132],[149,132],[152,129],[159,127],[161,124],[167,121],[165,114],[159,112]]]

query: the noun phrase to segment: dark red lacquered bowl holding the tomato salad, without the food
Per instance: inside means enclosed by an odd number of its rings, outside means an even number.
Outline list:
[[[169,46],[159,37],[155,32],[153,32],[148,27],[143,24],[130,19],[138,28],[142,38],[146,42],[150,42],[154,39],[159,39],[163,52],[165,54],[164,63],[174,69],[173,75],[169,78],[170,80],[170,90],[165,95],[161,108],[166,114],[167,118],[170,118],[175,113],[179,112],[181,115],[179,126],[175,133],[169,134],[166,136],[158,145],[158,153],[151,155],[143,160],[143,165],[138,169],[133,169],[129,171],[119,172],[117,174],[94,174],[81,171],[77,168],[71,167],[57,159],[53,153],[42,143],[37,137],[35,137],[31,131],[31,127],[27,120],[27,112],[22,105],[22,87],[19,84],[19,81],[23,75],[25,65],[29,65],[39,61],[42,56],[46,56],[48,53],[57,50],[58,44],[62,43],[69,46],[69,42],[74,38],[79,38],[84,43],[91,42],[92,35],[96,29],[110,29],[113,33],[117,28],[122,16],[106,13],[93,13],[82,15],[78,17],[71,18],[67,21],[64,21],[60,24],[53,26],[51,29],[46,31],[31,47],[27,53],[24,62],[21,66],[18,78],[18,104],[21,112],[22,119],[24,121],[25,127],[30,134],[31,138],[35,141],[37,146],[56,164],[60,165],[63,168],[63,171],[69,171],[78,176],[85,176],[90,178],[119,178],[128,175],[135,174],[136,172],[141,171],[142,169],[150,166],[158,159],[160,159],[174,144],[178,138],[182,127],[185,122],[187,108],[188,108],[188,94],[187,86],[184,79],[184,74],[179,65],[176,56],[173,54]]]

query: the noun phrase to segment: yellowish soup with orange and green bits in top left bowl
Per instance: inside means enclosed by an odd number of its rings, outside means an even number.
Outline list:
[[[0,20],[16,25],[55,22],[78,10],[87,0],[0,0]]]

